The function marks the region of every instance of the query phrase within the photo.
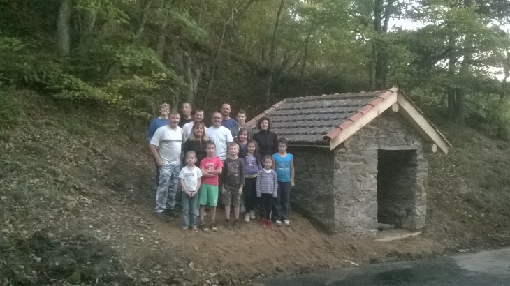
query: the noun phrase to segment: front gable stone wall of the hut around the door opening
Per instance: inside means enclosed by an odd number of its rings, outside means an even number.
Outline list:
[[[390,109],[334,150],[334,229],[341,234],[375,236],[377,232],[379,149],[416,150],[416,172],[407,203],[410,211],[401,218],[401,225],[419,229],[425,224],[427,161],[423,142],[409,123]]]

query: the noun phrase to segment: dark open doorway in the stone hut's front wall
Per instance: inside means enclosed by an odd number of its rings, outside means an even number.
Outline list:
[[[377,222],[401,228],[414,216],[416,150],[378,150]]]

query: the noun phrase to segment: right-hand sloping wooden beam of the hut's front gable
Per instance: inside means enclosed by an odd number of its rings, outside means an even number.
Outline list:
[[[411,103],[411,100],[399,94],[397,103],[400,106],[398,112],[413,126],[418,134],[425,138],[427,142],[437,144],[439,150],[445,155],[448,154],[448,148],[451,144],[428,122],[420,110]]]

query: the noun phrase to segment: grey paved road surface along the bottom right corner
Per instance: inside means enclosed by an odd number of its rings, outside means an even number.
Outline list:
[[[275,276],[250,285],[445,285],[509,286],[510,248],[450,257],[374,264],[356,269]]]

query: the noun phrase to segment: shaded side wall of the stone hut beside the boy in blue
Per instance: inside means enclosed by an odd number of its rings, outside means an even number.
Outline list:
[[[334,229],[333,151],[324,147],[289,146],[294,156],[296,186],[291,190],[291,209]]]

